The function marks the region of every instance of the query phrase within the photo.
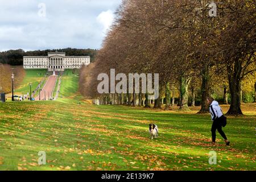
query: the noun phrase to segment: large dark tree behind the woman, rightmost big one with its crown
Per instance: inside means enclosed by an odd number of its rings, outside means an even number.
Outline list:
[[[226,65],[231,96],[227,114],[242,114],[241,82],[246,75],[256,71],[255,65],[255,5],[254,1],[228,1],[223,6],[220,24],[221,41],[218,45],[222,64]],[[236,35],[236,36],[233,36]]]

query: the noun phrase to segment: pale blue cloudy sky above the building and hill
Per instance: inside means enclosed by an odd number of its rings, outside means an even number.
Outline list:
[[[0,51],[100,49],[122,0],[0,0]]]

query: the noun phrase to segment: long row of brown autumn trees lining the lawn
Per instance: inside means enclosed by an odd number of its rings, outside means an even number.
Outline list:
[[[200,113],[208,112],[212,88],[224,85],[231,97],[228,114],[242,114],[242,83],[256,81],[255,15],[253,0],[123,1],[96,61],[82,69],[80,91],[101,104],[148,106],[147,94],[99,94],[97,76],[112,68],[126,75],[159,73],[166,109],[175,87],[180,109],[188,109],[188,89],[194,92],[200,84]]]

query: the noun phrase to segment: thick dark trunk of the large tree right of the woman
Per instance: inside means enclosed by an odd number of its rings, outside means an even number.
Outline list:
[[[230,108],[227,114],[240,115],[241,110],[241,70],[242,66],[238,61],[234,63],[234,69],[228,67],[229,90],[231,96]]]

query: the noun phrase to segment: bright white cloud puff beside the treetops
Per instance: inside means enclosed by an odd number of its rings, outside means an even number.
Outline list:
[[[97,21],[102,24],[103,30],[102,33],[105,35],[112,25],[114,20],[114,13],[112,10],[102,11],[101,14],[97,16]]]

